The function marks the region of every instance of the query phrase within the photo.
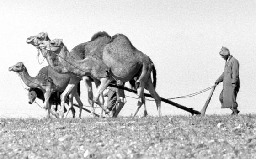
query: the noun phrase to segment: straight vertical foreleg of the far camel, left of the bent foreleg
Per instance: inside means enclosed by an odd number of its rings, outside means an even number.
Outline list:
[[[85,88],[87,89],[87,93],[88,93],[88,103],[91,107],[91,114],[94,115],[95,112],[94,112],[94,108],[93,108],[94,103],[93,103],[93,92],[92,92],[91,79],[88,76],[84,76],[83,81],[85,82]]]

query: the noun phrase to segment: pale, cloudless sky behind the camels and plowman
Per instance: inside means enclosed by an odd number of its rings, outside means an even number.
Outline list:
[[[255,0],[1,0],[0,118],[46,115],[37,104],[28,104],[26,85],[15,72],[8,71],[8,67],[24,62],[34,77],[48,65],[42,55],[37,58],[35,47],[26,43],[27,37],[40,32],[47,32],[51,39],[63,39],[69,51],[90,41],[98,31],[126,35],[154,62],[156,92],[163,98],[213,86],[224,70],[219,51],[225,46],[240,63],[238,109],[242,114],[256,113],[255,6]],[[222,83],[213,92],[206,114],[231,113],[220,108],[221,90]],[[83,82],[81,92],[82,102],[88,105]],[[209,93],[172,101],[200,111]],[[137,101],[131,97],[127,97],[120,115],[135,112]],[[147,101],[146,105],[149,115],[157,115],[155,102]],[[162,115],[190,114],[164,102],[161,110]]]

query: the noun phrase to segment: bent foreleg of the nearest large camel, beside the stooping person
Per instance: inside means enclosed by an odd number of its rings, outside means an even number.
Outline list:
[[[108,108],[104,108],[104,105],[101,104],[99,97],[100,95],[103,93],[103,91],[107,88],[108,84],[111,82],[111,80],[107,79],[107,78],[101,78],[101,84],[97,89],[97,93],[96,96],[93,97],[93,102],[95,102],[96,104],[98,104],[106,114],[110,113],[110,116],[113,116],[113,114],[111,113],[111,111]]]

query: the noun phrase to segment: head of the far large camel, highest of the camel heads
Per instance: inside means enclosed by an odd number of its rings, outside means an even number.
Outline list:
[[[30,36],[27,38],[27,43],[32,44],[38,49],[38,46],[41,44],[43,41],[49,41],[49,37],[47,35],[47,32],[41,32],[37,34],[36,36]]]

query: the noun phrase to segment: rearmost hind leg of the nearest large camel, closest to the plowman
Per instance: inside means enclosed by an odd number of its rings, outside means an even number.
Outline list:
[[[151,78],[149,78],[149,80],[147,81],[145,88],[149,91],[149,93],[155,99],[156,108],[158,110],[158,116],[161,117],[161,97],[155,91],[155,87],[153,86]]]

